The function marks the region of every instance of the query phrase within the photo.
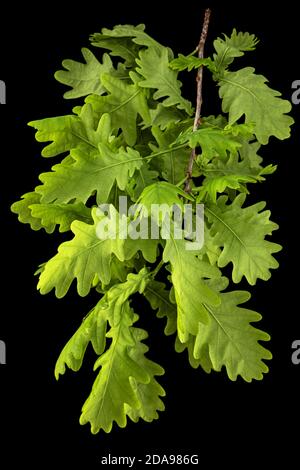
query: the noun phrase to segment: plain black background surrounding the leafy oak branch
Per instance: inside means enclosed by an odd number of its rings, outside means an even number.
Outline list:
[[[154,318],[140,302],[140,325],[150,332],[149,357],[166,375],[166,411],[159,421],[129,422],[106,435],[93,436],[80,426],[80,408],[94,373],[88,353],[78,373],[68,371],[56,382],[53,368],[66,341],[94,303],[93,296],[79,298],[73,287],[62,300],[36,291],[33,273],[38,264],[56,252],[57,243],[69,235],[31,232],[17,222],[9,206],[30,191],[38,175],[53,160],[40,158],[41,144],[34,141],[26,123],[33,119],[67,114],[75,101],[62,98],[66,87],[53,74],[65,58],[81,60],[90,33],[115,24],[145,23],[147,32],[175,53],[188,53],[198,43],[204,8],[213,9],[206,52],[212,40],[233,27],[255,33],[257,51],[238,59],[237,65],[254,65],[267,76],[272,88],[291,99],[291,84],[300,79],[299,11],[294,2],[284,5],[241,2],[39,2],[26,8],[1,6],[0,79],[6,82],[7,104],[1,118],[1,316],[0,339],[7,345],[7,364],[0,366],[1,468],[46,462],[66,465],[82,462],[100,467],[100,459],[113,455],[146,453],[199,454],[207,463],[243,468],[246,463],[268,465],[282,458],[297,463],[300,425],[300,365],[291,362],[291,344],[300,338],[298,276],[298,174],[299,110],[293,106],[292,138],[270,140],[261,154],[278,171],[266,183],[254,186],[253,201],[264,199],[280,230],[273,239],[284,246],[277,256],[280,268],[269,282],[250,289],[249,307],[263,315],[260,324],[272,340],[274,358],[263,381],[230,382],[225,372],[206,375],[189,367],[185,354],[176,354],[173,338],[164,338],[164,322]],[[263,8],[266,9],[263,9]],[[96,51],[96,53],[99,51]],[[192,74],[191,74],[192,75]],[[184,82],[184,93],[194,100],[194,78]],[[218,112],[216,91],[205,82],[203,114]],[[298,122],[297,122],[298,121]],[[246,285],[243,285],[246,287]],[[139,301],[137,301],[138,303]],[[137,305],[138,308],[138,305]],[[6,459],[6,460],[4,460]],[[5,462],[5,463],[4,463]]]

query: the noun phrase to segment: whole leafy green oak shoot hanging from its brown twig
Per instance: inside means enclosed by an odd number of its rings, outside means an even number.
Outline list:
[[[57,379],[67,367],[77,371],[86,349],[93,348],[97,377],[80,417],[92,433],[110,432],[114,422],[124,427],[128,417],[150,422],[164,409],[157,379],[164,370],[147,358],[147,332],[137,326],[131,303],[136,295],[166,318],[165,334],[176,335],[175,349],[187,350],[192,367],[224,368],[231,380],[241,376],[247,382],[268,371],[264,361],[271,353],[261,341],[269,335],[252,325],[261,316],[244,307],[248,292],[229,286],[243,278],[250,285],[268,280],[278,266],[273,254],[281,247],[267,238],[277,225],[265,202],[249,204],[247,195],[276,170],[263,166],[258,152],[271,137],[289,137],[291,105],[253,67],[231,69],[255,49],[254,35],[233,30],[214,41],[212,57],[204,57],[209,18],[206,10],[196,50],[177,58],[144,25],[93,34],[95,52],[82,49],[85,62],[65,60],[55,74],[69,86],[65,98],[81,98],[81,104],[69,115],[29,123],[46,143],[42,156],[55,164],[12,211],[33,230],[71,232],[40,266],[38,289],[54,289],[60,298],[76,279],[80,296],[91,290],[99,295],[55,367]],[[194,69],[196,109],[178,80],[180,72]],[[217,116],[201,112],[204,74],[218,89]],[[121,195],[141,206],[135,217],[122,215],[114,238],[101,238],[97,226],[109,215],[97,206],[108,204],[117,216]],[[138,223],[161,202],[181,210],[184,202],[204,204],[201,249],[186,249],[181,227],[181,239],[162,236],[168,210],[157,217],[158,238],[123,236],[124,224]],[[231,280],[222,276],[229,264]]]

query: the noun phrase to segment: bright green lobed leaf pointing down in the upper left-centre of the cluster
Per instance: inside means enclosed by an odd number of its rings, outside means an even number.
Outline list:
[[[140,87],[137,75],[129,73],[132,80],[128,83],[108,74],[101,75],[101,82],[109,92],[107,96],[90,95],[86,98],[93,109],[100,114],[109,113],[112,128],[122,129],[128,145],[133,146],[137,139],[137,116],[150,125],[151,118],[145,91]]]

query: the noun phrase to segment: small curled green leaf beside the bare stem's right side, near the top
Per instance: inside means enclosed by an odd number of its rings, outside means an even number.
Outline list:
[[[224,39],[214,41],[216,54],[213,55],[214,65],[218,74],[222,74],[236,57],[244,55],[245,51],[253,51],[258,43],[254,34],[237,33],[234,29],[230,38],[224,34]]]

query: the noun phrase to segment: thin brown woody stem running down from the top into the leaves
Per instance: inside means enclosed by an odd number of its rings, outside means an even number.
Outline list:
[[[204,13],[202,32],[201,32],[199,44],[197,46],[199,59],[203,59],[204,57],[204,46],[205,46],[205,41],[207,38],[210,13],[211,13],[211,10],[209,8],[207,8]],[[196,112],[195,112],[195,119],[194,119],[194,125],[193,125],[193,132],[195,132],[201,124],[200,116],[201,116],[201,107],[202,107],[203,66],[199,67],[198,69],[196,82],[197,82],[197,101],[196,101]],[[188,163],[188,167],[186,171],[187,179],[184,185],[184,190],[187,193],[191,192],[190,181],[192,179],[192,172],[193,172],[193,165],[194,165],[195,158],[196,158],[196,149],[193,149],[190,155],[190,159],[189,159],[189,163]]]

